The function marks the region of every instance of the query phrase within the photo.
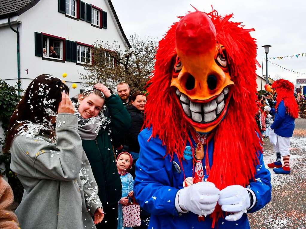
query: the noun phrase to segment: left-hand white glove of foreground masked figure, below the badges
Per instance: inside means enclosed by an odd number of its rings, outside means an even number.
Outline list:
[[[180,189],[175,197],[175,207],[181,213],[190,211],[207,216],[215,210],[219,193],[214,183],[202,181]]]

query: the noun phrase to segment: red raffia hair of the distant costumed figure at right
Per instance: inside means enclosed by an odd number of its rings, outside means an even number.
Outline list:
[[[299,114],[298,114],[297,101],[295,100],[293,95],[294,93],[293,83],[285,79],[279,79],[272,84],[272,88],[274,88],[277,93],[275,109],[277,109],[278,104],[282,100],[284,100],[284,105],[287,113],[292,118],[298,118]]]

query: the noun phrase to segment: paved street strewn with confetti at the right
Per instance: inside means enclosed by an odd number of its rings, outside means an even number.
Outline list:
[[[272,144],[265,139],[264,161],[276,159]],[[290,139],[289,175],[271,172],[272,199],[263,209],[248,214],[251,229],[306,228],[306,119],[297,118]]]

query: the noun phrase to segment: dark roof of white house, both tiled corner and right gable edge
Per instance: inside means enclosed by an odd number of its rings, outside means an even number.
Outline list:
[[[123,31],[123,28],[118,19],[113,3],[111,2],[111,0],[107,0],[107,1],[115,16],[119,30],[126,44],[128,45],[129,48],[131,48],[132,46],[130,45],[129,40]],[[1,0],[0,1],[0,19],[15,16],[15,15],[20,15],[24,13],[25,11],[27,11],[28,9],[30,9],[32,6],[34,6],[37,2],[39,2],[39,0]]]

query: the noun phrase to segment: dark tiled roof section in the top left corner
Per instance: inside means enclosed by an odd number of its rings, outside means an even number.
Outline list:
[[[0,19],[20,15],[34,6],[39,0],[1,0]]]

